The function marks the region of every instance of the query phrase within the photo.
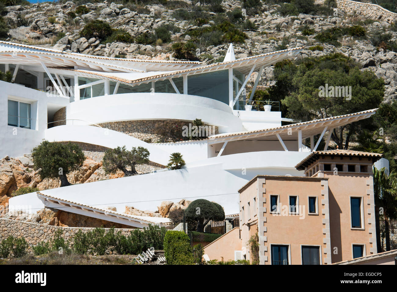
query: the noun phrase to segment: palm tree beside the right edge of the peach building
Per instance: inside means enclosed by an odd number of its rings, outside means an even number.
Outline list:
[[[378,252],[381,246],[380,218],[382,218],[385,223],[386,251],[390,250],[389,220],[397,218],[397,172],[394,170],[390,172],[390,174],[387,172],[385,168],[378,170],[374,167],[375,220]]]

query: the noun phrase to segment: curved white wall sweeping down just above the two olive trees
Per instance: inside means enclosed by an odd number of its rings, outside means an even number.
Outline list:
[[[170,159],[170,153],[156,147],[155,144],[146,143],[118,131],[95,126],[57,126],[45,130],[44,137],[50,142],[75,141],[108,148],[125,145],[127,149],[131,149],[132,147],[142,146],[148,149],[150,153],[149,159],[152,162],[167,165]]]

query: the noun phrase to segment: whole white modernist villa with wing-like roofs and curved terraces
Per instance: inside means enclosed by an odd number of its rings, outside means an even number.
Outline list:
[[[143,146],[162,170],[57,188],[10,199],[10,207],[45,206],[142,227],[168,219],[123,214],[125,206],[155,211],[161,201],[205,198],[226,214],[239,212],[239,188],[257,174],[303,176],[294,166],[318,147],[303,145],[321,134],[330,141],[338,126],[368,118],[376,110],[281,126],[279,111],[246,107],[266,66],[295,56],[291,48],[235,60],[230,46],[224,62],[157,61],[87,56],[0,42],[0,70],[14,83],[0,81],[0,156],[21,156],[43,139],[114,148]],[[250,96],[245,90],[258,72]],[[50,91],[50,93],[48,93]],[[199,141],[147,143],[103,125],[114,122],[200,118],[218,133]],[[187,162],[168,170],[170,153]],[[116,212],[106,211],[115,206]]]

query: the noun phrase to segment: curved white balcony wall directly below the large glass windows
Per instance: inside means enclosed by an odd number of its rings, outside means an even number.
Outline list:
[[[176,93],[123,93],[71,102],[67,119],[105,123],[127,120],[194,120],[218,126],[221,133],[242,131],[231,108],[220,101]],[[71,121],[68,121],[71,123]],[[79,124],[79,121],[73,121]],[[80,124],[87,124],[80,122]]]

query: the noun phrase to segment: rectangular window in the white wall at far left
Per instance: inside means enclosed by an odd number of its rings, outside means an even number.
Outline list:
[[[31,129],[31,104],[8,100],[8,126]]]

